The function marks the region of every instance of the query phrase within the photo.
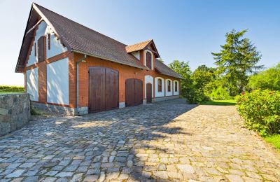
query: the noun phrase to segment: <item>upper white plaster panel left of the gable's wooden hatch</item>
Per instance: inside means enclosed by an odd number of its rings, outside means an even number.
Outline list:
[[[29,59],[27,60],[27,66],[30,66],[32,64],[35,64],[36,62],[38,62],[38,39],[41,36],[45,35],[45,29],[47,28],[47,24],[42,21],[39,25],[38,25],[38,29],[36,30],[36,36],[34,38],[33,41],[33,45],[32,45],[32,50],[31,53],[29,55]],[[35,56],[35,46],[34,44],[36,43],[36,48],[37,48],[37,56]]]

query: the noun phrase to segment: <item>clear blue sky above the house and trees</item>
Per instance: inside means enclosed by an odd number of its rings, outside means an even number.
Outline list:
[[[23,85],[14,73],[32,1],[0,0],[0,85]],[[166,64],[214,66],[225,33],[248,29],[266,67],[280,62],[280,1],[34,1],[127,45],[153,38]],[[77,3],[78,2],[78,3]]]

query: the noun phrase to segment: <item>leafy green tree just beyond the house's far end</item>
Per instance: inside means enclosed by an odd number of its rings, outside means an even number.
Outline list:
[[[190,89],[190,85],[192,85],[190,81],[190,65],[188,62],[179,62],[179,60],[174,60],[169,67],[176,71],[177,73],[181,74],[184,78],[181,80],[181,95],[186,97],[188,95],[188,90]]]

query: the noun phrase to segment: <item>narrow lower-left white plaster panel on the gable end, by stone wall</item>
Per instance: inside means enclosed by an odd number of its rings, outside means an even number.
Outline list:
[[[38,68],[27,70],[26,79],[31,101],[38,101]]]

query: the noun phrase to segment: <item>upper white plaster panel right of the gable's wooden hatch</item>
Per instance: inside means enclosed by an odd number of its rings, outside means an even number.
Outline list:
[[[48,36],[46,38],[47,59],[55,55],[59,55],[67,50],[66,47],[63,47],[60,39],[57,39],[57,36],[55,36],[50,27],[47,28],[46,34],[50,34],[50,40],[48,39]],[[50,41],[50,50],[48,49],[48,41]]]

